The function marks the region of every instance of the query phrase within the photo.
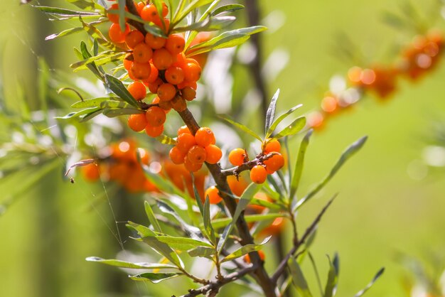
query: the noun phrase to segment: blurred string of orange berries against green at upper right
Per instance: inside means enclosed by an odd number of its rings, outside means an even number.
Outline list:
[[[308,115],[310,128],[319,129],[323,123],[358,102],[367,92],[374,92],[377,98],[387,99],[397,90],[397,79],[407,77],[417,81],[427,72],[436,68],[445,48],[445,38],[438,31],[414,37],[407,48],[402,49],[400,61],[393,65],[377,65],[372,68],[354,66],[345,77],[349,87],[341,92],[328,92],[321,100],[321,110]]]

